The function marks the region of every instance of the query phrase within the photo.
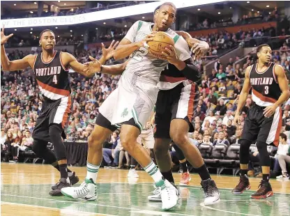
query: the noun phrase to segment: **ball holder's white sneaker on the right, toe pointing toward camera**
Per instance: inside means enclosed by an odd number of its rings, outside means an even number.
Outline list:
[[[170,210],[178,203],[178,190],[168,180],[160,180],[155,187],[161,190],[162,210]]]

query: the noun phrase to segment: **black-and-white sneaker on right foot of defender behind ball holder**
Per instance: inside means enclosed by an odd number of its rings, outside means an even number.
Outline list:
[[[201,187],[204,190],[204,206],[213,205],[220,202],[220,192],[218,192],[215,181],[211,178],[201,180]]]

